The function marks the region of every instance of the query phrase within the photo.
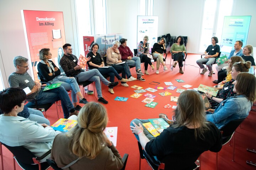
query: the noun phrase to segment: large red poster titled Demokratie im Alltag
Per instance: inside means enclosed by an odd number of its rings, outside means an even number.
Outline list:
[[[39,82],[37,64],[41,49],[50,49],[52,61],[60,68],[59,61],[64,54],[62,46],[66,43],[63,12],[23,10],[22,14],[28,56],[32,63],[30,69],[33,70],[34,80]],[[62,68],[60,71],[64,74]]]

